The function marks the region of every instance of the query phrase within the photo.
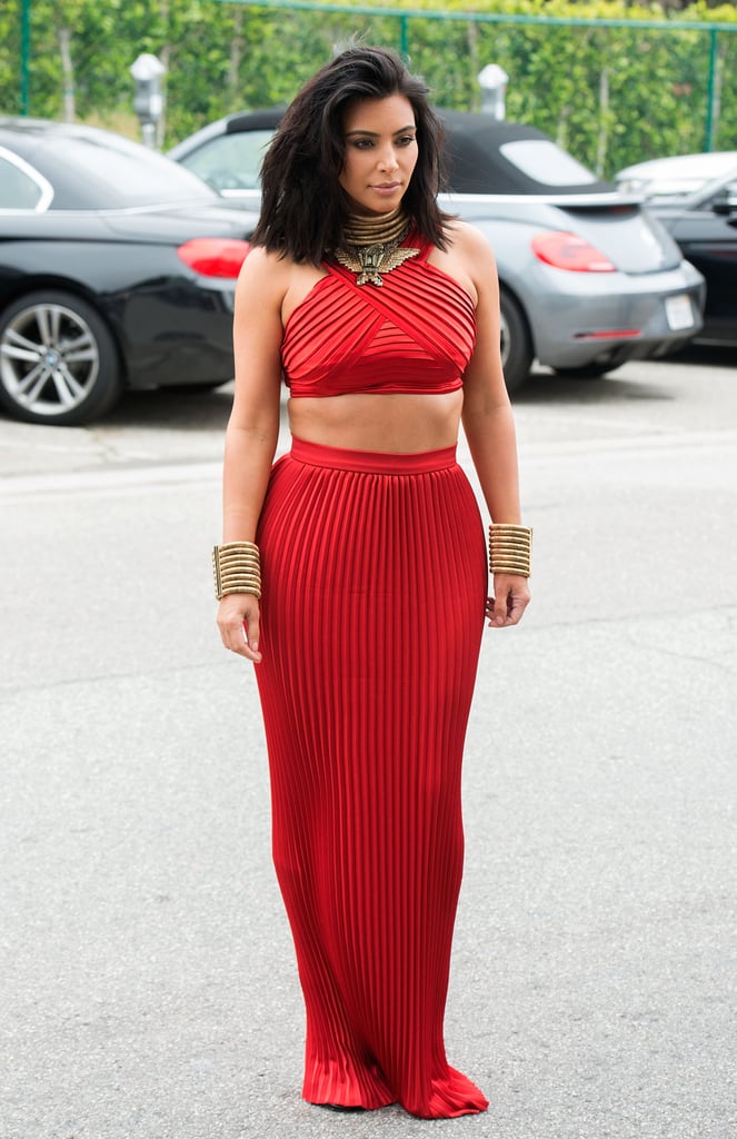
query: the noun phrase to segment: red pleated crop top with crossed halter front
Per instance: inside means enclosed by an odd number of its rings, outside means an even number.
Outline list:
[[[328,271],[294,310],[281,360],[293,398],[355,392],[455,392],[474,351],[476,313],[461,285],[427,263],[433,246],[410,233],[419,255],[387,272],[384,285],[357,285]]]

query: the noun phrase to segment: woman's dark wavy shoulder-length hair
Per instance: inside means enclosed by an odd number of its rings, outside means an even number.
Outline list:
[[[415,112],[417,165],[403,205],[421,236],[447,247],[450,215],[436,202],[442,125],[427,87],[385,48],[352,46],[312,76],[287,108],[263,159],[262,208],[254,245],[318,265],[344,244],[349,199],[339,185],[345,164],[343,124],[358,99],[403,95]]]

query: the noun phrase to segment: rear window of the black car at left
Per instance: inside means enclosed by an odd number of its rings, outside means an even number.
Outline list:
[[[31,161],[54,186],[54,210],[121,210],[214,197],[188,170],[123,137],[49,136]]]

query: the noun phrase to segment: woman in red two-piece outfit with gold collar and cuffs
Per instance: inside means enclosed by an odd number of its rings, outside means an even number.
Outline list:
[[[488,1107],[443,1046],[461,753],[484,613],[516,624],[530,572],[496,267],[437,188],[439,123],[392,52],[349,49],[287,110],[237,288],[214,552],[223,644],[259,665],[304,1098],[421,1117]]]

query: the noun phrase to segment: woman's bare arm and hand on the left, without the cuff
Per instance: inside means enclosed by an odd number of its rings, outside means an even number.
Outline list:
[[[236,391],[226,432],[223,542],[255,541],[279,436],[281,302],[287,267],[264,249],[246,257],[234,316]],[[259,662],[259,601],[223,597],[218,625],[226,648]]]

